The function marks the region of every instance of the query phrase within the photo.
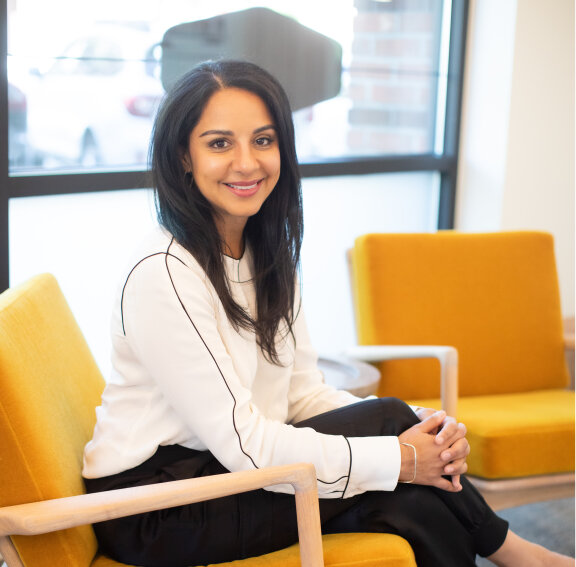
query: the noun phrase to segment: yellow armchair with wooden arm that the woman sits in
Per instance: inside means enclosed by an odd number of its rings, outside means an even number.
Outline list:
[[[222,566],[416,565],[395,535],[321,538],[310,465],[84,494],[82,453],[104,380],[53,276],[0,295],[0,345],[0,554],[9,567],[121,567],[98,554],[91,523],[284,482],[296,489],[300,545]]]

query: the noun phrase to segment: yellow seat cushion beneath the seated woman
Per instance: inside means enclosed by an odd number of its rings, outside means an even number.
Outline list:
[[[326,567],[416,567],[414,553],[406,540],[391,534],[331,534],[322,538]],[[92,567],[123,565],[98,557]],[[300,567],[300,551],[293,545],[274,553],[218,567]]]

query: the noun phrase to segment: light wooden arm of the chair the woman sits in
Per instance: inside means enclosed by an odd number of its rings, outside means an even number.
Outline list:
[[[277,484],[290,484],[295,491],[302,565],[321,567],[316,471],[304,463],[7,506],[0,508],[0,537],[53,532]]]

